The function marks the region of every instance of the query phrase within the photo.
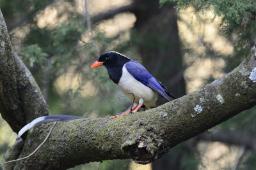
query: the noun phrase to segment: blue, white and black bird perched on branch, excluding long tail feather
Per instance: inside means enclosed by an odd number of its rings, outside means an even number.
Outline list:
[[[177,99],[169,90],[158,81],[139,62],[118,52],[106,52],[100,55],[91,68],[105,66],[109,78],[118,85],[125,96],[131,99],[132,104],[126,111],[110,118],[121,117],[128,113],[135,113],[140,108],[155,108],[158,94],[167,101]]]

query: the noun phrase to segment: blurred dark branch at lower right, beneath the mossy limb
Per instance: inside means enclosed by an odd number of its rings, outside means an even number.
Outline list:
[[[246,149],[256,151],[256,138],[248,136],[239,132],[215,132],[214,134],[207,134],[206,132],[200,134],[196,139],[201,141],[219,141],[227,143],[228,145],[245,146]]]

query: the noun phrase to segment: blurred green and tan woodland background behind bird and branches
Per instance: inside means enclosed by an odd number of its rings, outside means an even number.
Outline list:
[[[161,8],[156,0],[0,0],[0,8],[13,48],[35,77],[51,113],[109,117],[131,101],[104,67],[90,69],[100,53],[116,51],[141,62],[181,97],[234,69],[256,41],[254,1],[160,3]],[[255,110],[210,131],[254,139]],[[17,134],[2,118],[0,132],[2,159]],[[243,143],[195,138],[146,166],[106,160],[71,169],[253,169],[255,160],[255,150]]]

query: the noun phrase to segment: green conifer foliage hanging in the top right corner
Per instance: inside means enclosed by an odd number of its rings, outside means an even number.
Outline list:
[[[236,59],[227,59],[226,71],[234,69],[241,62],[241,56],[246,56],[250,52],[256,38],[256,1],[160,0],[159,3],[161,6],[164,3],[175,4],[178,11],[192,6],[195,14],[205,14],[211,10],[215,16],[221,17],[220,29],[234,45],[236,56]]]

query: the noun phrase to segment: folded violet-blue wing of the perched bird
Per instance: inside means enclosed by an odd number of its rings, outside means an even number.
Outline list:
[[[145,69],[145,67],[143,67],[140,63],[130,60],[127,62],[127,64],[125,64],[125,67],[136,80],[143,83],[143,85],[156,90],[156,92],[163,96],[166,100],[171,101],[170,97],[168,97],[162,86],[159,84],[159,81],[148,73],[147,69]]]

